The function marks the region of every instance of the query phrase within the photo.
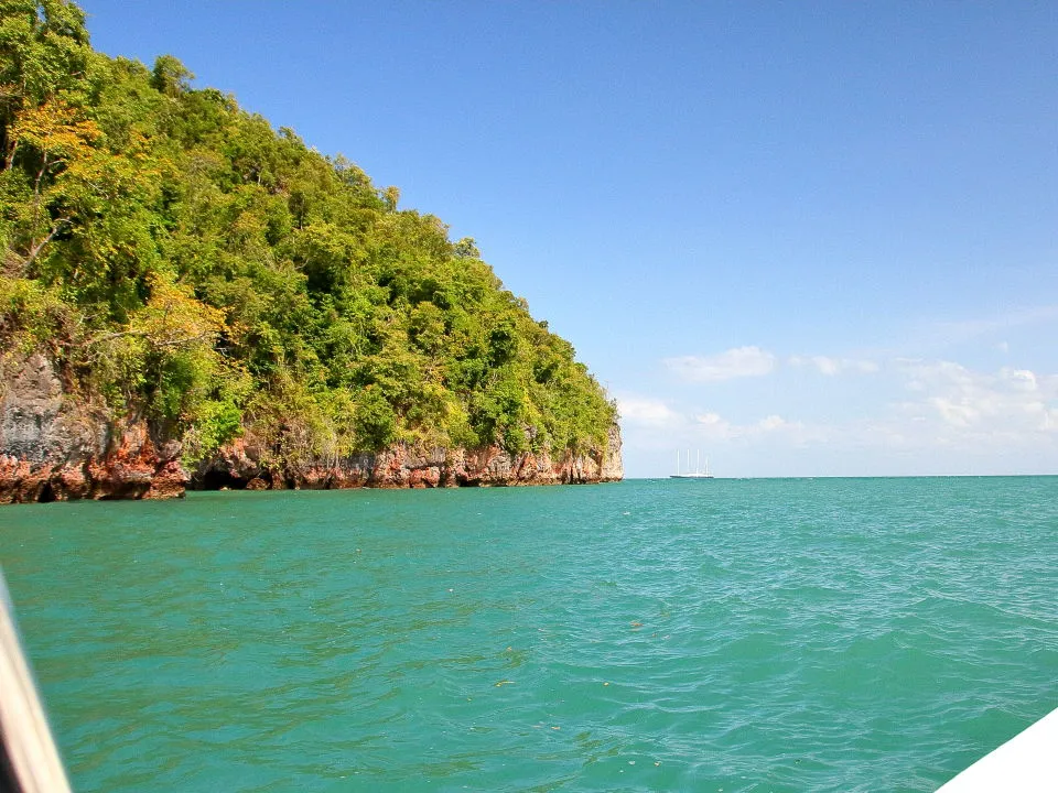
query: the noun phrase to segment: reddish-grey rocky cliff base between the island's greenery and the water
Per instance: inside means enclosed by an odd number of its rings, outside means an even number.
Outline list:
[[[136,417],[115,422],[71,400],[41,356],[0,371],[0,503],[67,499],[173,498],[196,489],[332,489],[559,485],[622,478],[620,430],[605,453],[511,457],[484,449],[417,449],[313,459],[278,469],[247,433],[194,471],[179,442]]]

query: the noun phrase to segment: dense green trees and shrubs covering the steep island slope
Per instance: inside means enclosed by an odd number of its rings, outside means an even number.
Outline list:
[[[432,215],[231,96],[90,47],[64,0],[0,0],[0,366],[184,441],[282,458],[602,448],[614,405]]]

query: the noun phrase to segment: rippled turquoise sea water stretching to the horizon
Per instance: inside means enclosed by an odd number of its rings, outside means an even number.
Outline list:
[[[931,791],[1058,707],[1058,478],[0,511],[77,791]]]

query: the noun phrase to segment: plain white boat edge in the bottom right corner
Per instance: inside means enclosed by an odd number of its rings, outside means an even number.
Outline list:
[[[1058,790],[1058,708],[989,752],[937,793],[1054,793]]]

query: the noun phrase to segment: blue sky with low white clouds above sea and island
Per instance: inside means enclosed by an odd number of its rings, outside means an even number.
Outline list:
[[[473,237],[627,477],[1058,474],[1058,4],[84,0]]]

